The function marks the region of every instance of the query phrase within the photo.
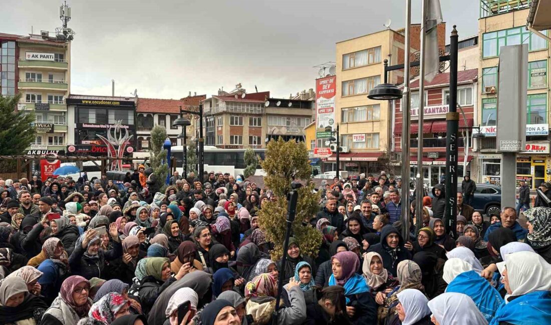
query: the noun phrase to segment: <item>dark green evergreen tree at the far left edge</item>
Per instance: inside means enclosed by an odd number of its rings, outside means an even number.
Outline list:
[[[21,93],[0,95],[0,155],[23,155],[35,139],[35,114],[16,111]]]

